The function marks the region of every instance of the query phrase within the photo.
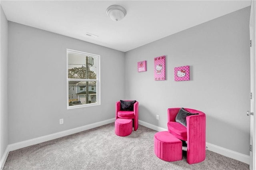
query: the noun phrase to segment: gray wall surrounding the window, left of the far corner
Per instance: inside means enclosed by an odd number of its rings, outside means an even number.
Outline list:
[[[66,48],[100,55],[101,105],[67,110]],[[8,22],[9,144],[114,118],[122,68],[124,52]]]

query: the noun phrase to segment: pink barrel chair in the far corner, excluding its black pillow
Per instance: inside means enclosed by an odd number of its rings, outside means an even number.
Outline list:
[[[129,101],[129,100],[126,100]],[[139,103],[136,101],[133,106],[133,111],[121,111],[121,103],[120,101],[116,102],[116,119],[122,118],[122,119],[132,119],[133,120],[133,126],[134,131],[138,129],[138,110],[139,110]]]

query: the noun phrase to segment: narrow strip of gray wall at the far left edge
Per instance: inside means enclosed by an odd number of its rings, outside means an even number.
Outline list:
[[[8,22],[0,5],[0,160],[8,145],[7,56]],[[3,165],[0,165],[3,166]]]

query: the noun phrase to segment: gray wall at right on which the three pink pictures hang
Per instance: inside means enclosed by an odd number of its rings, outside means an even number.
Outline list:
[[[139,101],[139,119],[167,128],[167,109],[206,113],[206,142],[249,155],[250,7],[126,52],[126,98]],[[154,57],[166,55],[166,80],[154,81]],[[146,72],[137,62],[147,61]],[[174,67],[190,65],[190,81]],[[156,120],[159,115],[159,121]]]

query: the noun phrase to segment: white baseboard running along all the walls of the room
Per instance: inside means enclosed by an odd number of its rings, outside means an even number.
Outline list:
[[[25,140],[25,141],[17,142],[17,143],[14,143],[14,144],[9,144],[7,146],[5,152],[4,152],[4,155],[2,156],[1,161],[0,161],[0,167],[4,166],[4,163],[6,162],[8,154],[12,150],[16,150],[16,149],[24,148],[24,147],[31,146],[31,145],[34,145],[34,144],[46,142],[48,140],[53,140],[53,139],[60,138],[60,137],[63,137],[63,136],[67,136],[67,135],[70,135],[70,134],[74,134],[74,133],[77,133],[77,132],[82,132],[84,130],[88,130],[88,129],[91,129],[91,128],[100,127],[102,125],[113,123],[115,120],[116,120],[115,118],[108,119],[106,121],[92,123],[90,125],[85,125],[85,126],[78,127],[78,128],[72,128],[70,130],[64,130],[62,132],[57,132],[57,133],[49,134],[49,135],[46,135],[46,136],[41,136],[41,137],[38,137],[38,138]],[[153,130],[156,130],[158,132],[167,130],[165,128],[158,127],[156,125],[152,125],[150,123],[146,123],[146,122],[140,121],[140,120],[139,120],[139,124],[144,126],[144,127],[148,127],[148,128],[153,129]],[[229,150],[229,149],[226,149],[226,148],[222,148],[220,146],[216,146],[216,145],[210,144],[208,142],[206,142],[206,146],[207,146],[207,149],[212,151],[212,152],[222,154],[224,156],[227,156],[227,157],[235,159],[235,160],[239,160],[240,162],[244,162],[246,164],[249,164],[249,162],[250,162],[250,156],[248,156],[248,155],[241,154],[239,152],[235,152],[235,151],[232,151],[232,150]]]

